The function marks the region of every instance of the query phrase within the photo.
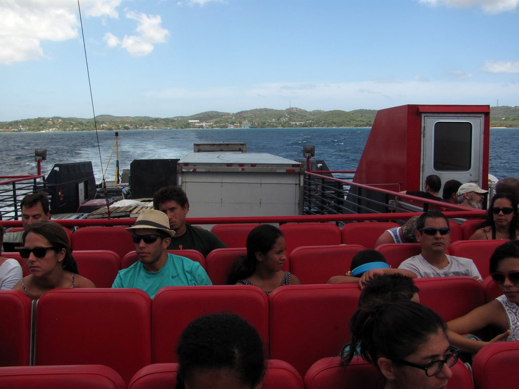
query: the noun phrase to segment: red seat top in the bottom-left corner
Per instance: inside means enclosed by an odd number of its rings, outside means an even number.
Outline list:
[[[110,367],[101,365],[17,366],[0,368],[2,389],[125,389]]]

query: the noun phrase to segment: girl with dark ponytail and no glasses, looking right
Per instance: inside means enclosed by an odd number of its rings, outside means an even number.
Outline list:
[[[267,295],[278,286],[301,284],[294,274],[281,270],[286,260],[285,248],[279,228],[270,224],[253,228],[247,237],[247,256],[235,261],[227,284],[256,285]]]

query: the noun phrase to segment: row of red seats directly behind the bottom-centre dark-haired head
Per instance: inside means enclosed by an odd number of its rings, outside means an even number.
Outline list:
[[[420,300],[446,321],[485,303],[469,277],[418,279]],[[266,355],[304,374],[318,359],[336,356],[357,309],[355,284],[293,285],[270,296],[254,286],[184,286],[161,289],[152,300],[139,289],[55,289],[37,303],[35,365],[100,364],[126,382],[143,366],[176,362],[182,330],[208,313],[234,312],[249,321]],[[449,304],[445,304],[449,301]],[[30,303],[18,291],[0,291],[0,366],[27,365]]]

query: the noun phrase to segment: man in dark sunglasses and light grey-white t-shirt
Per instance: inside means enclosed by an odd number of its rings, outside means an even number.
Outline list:
[[[466,275],[482,280],[472,259],[445,254],[450,244],[450,229],[443,213],[431,210],[420,215],[415,235],[421,253],[403,261],[399,269],[411,270],[418,278]]]

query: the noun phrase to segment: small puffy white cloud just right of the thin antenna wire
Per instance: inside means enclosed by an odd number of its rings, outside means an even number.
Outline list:
[[[111,33],[106,33],[103,39],[108,47],[120,45],[132,57],[142,57],[153,51],[153,44],[164,43],[169,36],[169,31],[160,26],[162,19],[158,15],[129,11],[126,17],[138,22],[135,29],[138,35],[125,35],[124,38],[119,39]]]

